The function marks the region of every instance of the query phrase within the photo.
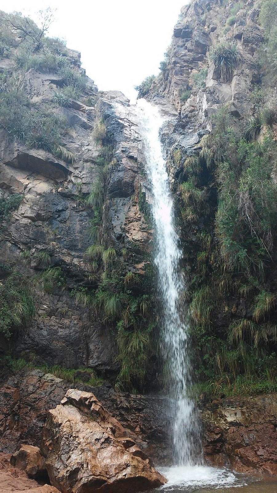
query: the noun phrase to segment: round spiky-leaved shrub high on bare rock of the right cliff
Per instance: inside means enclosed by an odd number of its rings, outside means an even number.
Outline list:
[[[237,43],[218,43],[211,49],[210,60],[215,69],[218,70],[219,77],[224,82],[230,82],[242,57],[238,51]]]

